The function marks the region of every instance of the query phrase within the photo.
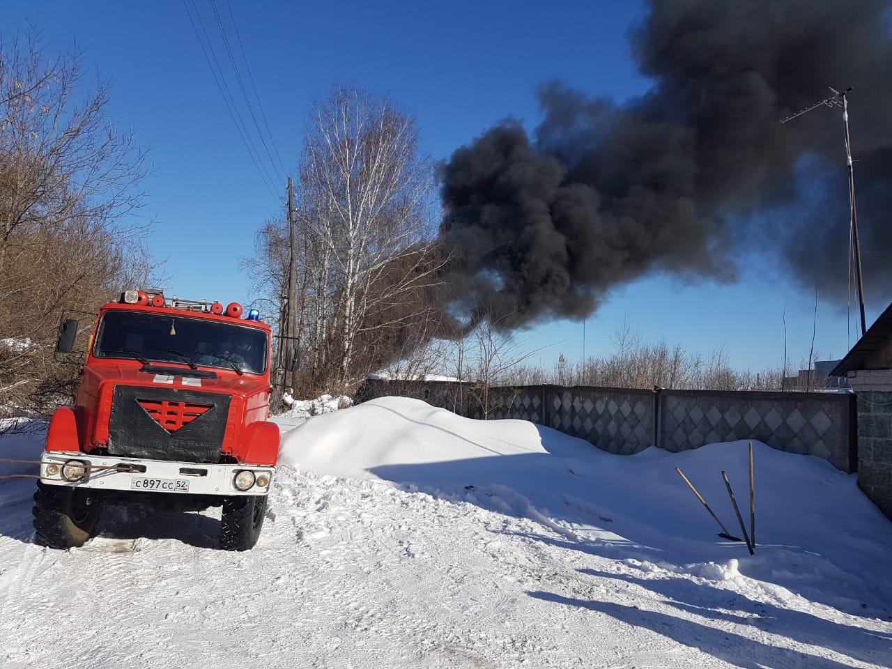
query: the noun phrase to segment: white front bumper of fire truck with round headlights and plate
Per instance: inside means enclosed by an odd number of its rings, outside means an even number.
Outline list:
[[[40,458],[41,483],[95,490],[265,495],[275,474],[276,467],[94,457],[80,452],[45,452]]]

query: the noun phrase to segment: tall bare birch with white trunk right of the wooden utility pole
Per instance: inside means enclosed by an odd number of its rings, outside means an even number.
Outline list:
[[[409,115],[357,87],[335,87],[310,113],[300,225],[313,246],[318,305],[330,307],[317,314],[326,328],[318,338],[337,342],[341,384],[359,340],[429,312],[418,296],[441,283],[446,259],[425,216],[433,170],[417,142]]]

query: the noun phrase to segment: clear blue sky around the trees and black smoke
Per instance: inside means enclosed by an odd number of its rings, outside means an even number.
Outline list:
[[[193,0],[186,2],[192,9]],[[226,0],[216,2],[229,27]],[[231,2],[278,152],[292,172],[306,112],[335,82],[392,95],[417,115],[423,150],[435,160],[508,114],[533,127],[542,81],[562,79],[617,100],[648,86],[625,38],[640,17],[637,2]],[[211,0],[194,3],[238,96]],[[111,80],[111,118],[151,148],[144,216],[155,223],[147,241],[154,257],[166,260],[169,292],[250,301],[239,260],[252,254],[255,231],[279,205],[239,139],[183,2],[4,3],[4,37],[29,23],[50,52],[77,40],[87,67]],[[277,177],[284,194],[285,175]],[[723,346],[739,367],[780,366],[786,309],[791,358],[807,355],[814,297],[757,259],[741,260],[734,285],[648,277],[616,291],[587,321],[586,352],[606,351],[625,321],[645,339],[663,337],[690,351]],[[869,323],[885,306],[868,305]],[[571,360],[582,355],[578,323],[521,336],[531,348],[547,346],[534,356],[545,363],[560,352]],[[839,357],[851,341],[845,305],[819,303],[815,350]]]

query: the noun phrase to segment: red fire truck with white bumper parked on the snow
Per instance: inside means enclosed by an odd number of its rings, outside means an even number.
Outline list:
[[[77,327],[62,323],[57,351],[73,350]],[[56,410],[46,435],[37,542],[80,546],[103,505],[138,503],[222,507],[220,547],[252,548],[279,450],[269,361],[269,326],[236,302],[126,291],[105,304],[74,404]]]

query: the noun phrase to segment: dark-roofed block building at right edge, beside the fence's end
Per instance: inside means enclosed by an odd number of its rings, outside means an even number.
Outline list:
[[[858,486],[892,518],[892,304],[830,374],[858,396]]]

